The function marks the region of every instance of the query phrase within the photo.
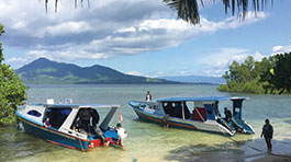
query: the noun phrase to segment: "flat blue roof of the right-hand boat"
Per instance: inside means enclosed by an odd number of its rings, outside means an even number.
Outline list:
[[[159,99],[157,102],[219,102],[219,101],[228,101],[228,100],[247,100],[244,96],[204,96],[204,97],[167,97]]]

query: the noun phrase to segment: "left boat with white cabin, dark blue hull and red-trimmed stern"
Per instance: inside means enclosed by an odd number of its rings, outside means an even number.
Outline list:
[[[45,139],[55,144],[67,147],[70,149],[80,149],[87,151],[102,144],[115,142],[119,138],[116,130],[110,127],[120,105],[101,105],[101,104],[30,104],[24,105],[16,111],[26,132]],[[74,125],[79,119],[79,112],[83,109],[108,109],[108,114],[99,126],[102,134],[96,131],[77,131]],[[49,125],[44,125],[45,119],[49,117]],[[91,130],[93,127],[91,126]],[[80,130],[80,129],[79,129]],[[103,141],[101,142],[101,135]]]

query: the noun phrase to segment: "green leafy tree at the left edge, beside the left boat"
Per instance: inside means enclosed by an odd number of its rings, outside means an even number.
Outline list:
[[[0,24],[0,36],[4,33],[3,25]],[[15,121],[15,111],[18,105],[22,105],[26,100],[25,86],[14,73],[9,65],[3,63],[2,44],[0,43],[0,126]]]

